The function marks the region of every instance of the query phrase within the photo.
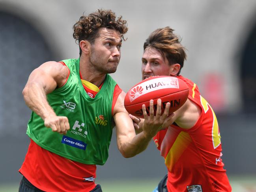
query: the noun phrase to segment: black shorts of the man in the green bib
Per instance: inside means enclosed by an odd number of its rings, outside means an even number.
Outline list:
[[[37,188],[36,186],[32,185],[28,179],[26,179],[24,176],[21,179],[19,192],[45,192],[41,189]],[[101,185],[96,185],[93,190],[90,192],[102,192]]]

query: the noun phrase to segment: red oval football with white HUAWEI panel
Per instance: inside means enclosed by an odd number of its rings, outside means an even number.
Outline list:
[[[149,101],[154,101],[154,112],[157,109],[157,99],[161,99],[162,113],[166,103],[170,102],[169,114],[178,110],[189,96],[187,84],[172,76],[153,76],[133,86],[125,95],[124,106],[127,112],[136,117],[142,117],[142,104],[146,105],[149,114]]]

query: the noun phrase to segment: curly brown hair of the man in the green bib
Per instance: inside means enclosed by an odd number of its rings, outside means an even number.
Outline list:
[[[95,38],[99,35],[99,28],[102,27],[119,31],[123,40],[126,40],[124,39],[123,34],[128,30],[127,21],[123,20],[122,16],[116,19],[116,14],[112,10],[105,9],[98,9],[88,16],[83,15],[80,17],[79,21],[77,21],[73,26],[73,37],[76,39],[76,42],[78,42],[78,45],[82,40],[87,40],[93,44]],[[81,54],[82,50],[80,48],[79,55],[81,56]]]

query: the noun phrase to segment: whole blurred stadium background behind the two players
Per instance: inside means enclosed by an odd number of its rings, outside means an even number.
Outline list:
[[[170,26],[181,36],[188,49],[181,75],[196,82],[215,109],[233,191],[256,192],[255,0],[0,0],[0,191],[17,191],[21,179],[30,117],[21,92],[28,75],[43,62],[78,58],[72,26],[99,8],[128,21],[128,39],[112,74],[124,91],[141,80],[143,43],[150,32]],[[114,132],[96,182],[105,192],[152,191],[166,173],[156,147],[151,143],[125,159],[115,137]]]

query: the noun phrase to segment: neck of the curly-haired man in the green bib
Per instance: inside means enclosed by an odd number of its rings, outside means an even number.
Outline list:
[[[85,58],[80,58],[79,66],[82,78],[97,87],[99,87],[106,78],[106,74],[99,73],[99,71],[95,70],[90,61],[87,61]]]

